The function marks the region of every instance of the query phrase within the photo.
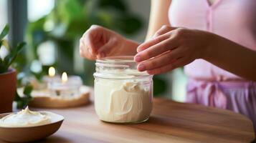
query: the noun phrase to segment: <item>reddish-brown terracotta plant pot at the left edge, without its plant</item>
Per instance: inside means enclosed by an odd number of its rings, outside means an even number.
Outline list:
[[[12,112],[16,92],[16,70],[0,74],[0,113]]]

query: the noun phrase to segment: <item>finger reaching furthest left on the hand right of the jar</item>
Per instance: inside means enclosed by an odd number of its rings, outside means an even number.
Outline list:
[[[155,56],[158,56],[159,54],[163,54],[166,51],[175,49],[177,46],[179,46],[176,39],[170,38],[166,39],[164,41],[161,41],[158,44],[155,44],[148,49],[145,49],[144,51],[139,52],[134,56],[134,60],[136,62],[145,61],[147,59],[151,59]]]

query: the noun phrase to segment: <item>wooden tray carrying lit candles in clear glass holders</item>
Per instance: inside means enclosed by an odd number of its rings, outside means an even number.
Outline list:
[[[49,68],[48,76],[44,76],[44,89],[34,90],[32,107],[67,108],[78,107],[90,102],[90,88],[82,85],[78,76],[69,76],[63,72],[62,77],[55,75],[54,67]]]

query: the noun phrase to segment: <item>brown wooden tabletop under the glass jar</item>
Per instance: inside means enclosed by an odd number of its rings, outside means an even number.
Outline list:
[[[42,110],[42,109],[41,109]],[[45,109],[44,109],[45,110]],[[153,112],[143,124],[101,122],[93,103],[73,109],[49,109],[65,121],[42,142],[252,142],[252,122],[227,110],[154,99]]]

